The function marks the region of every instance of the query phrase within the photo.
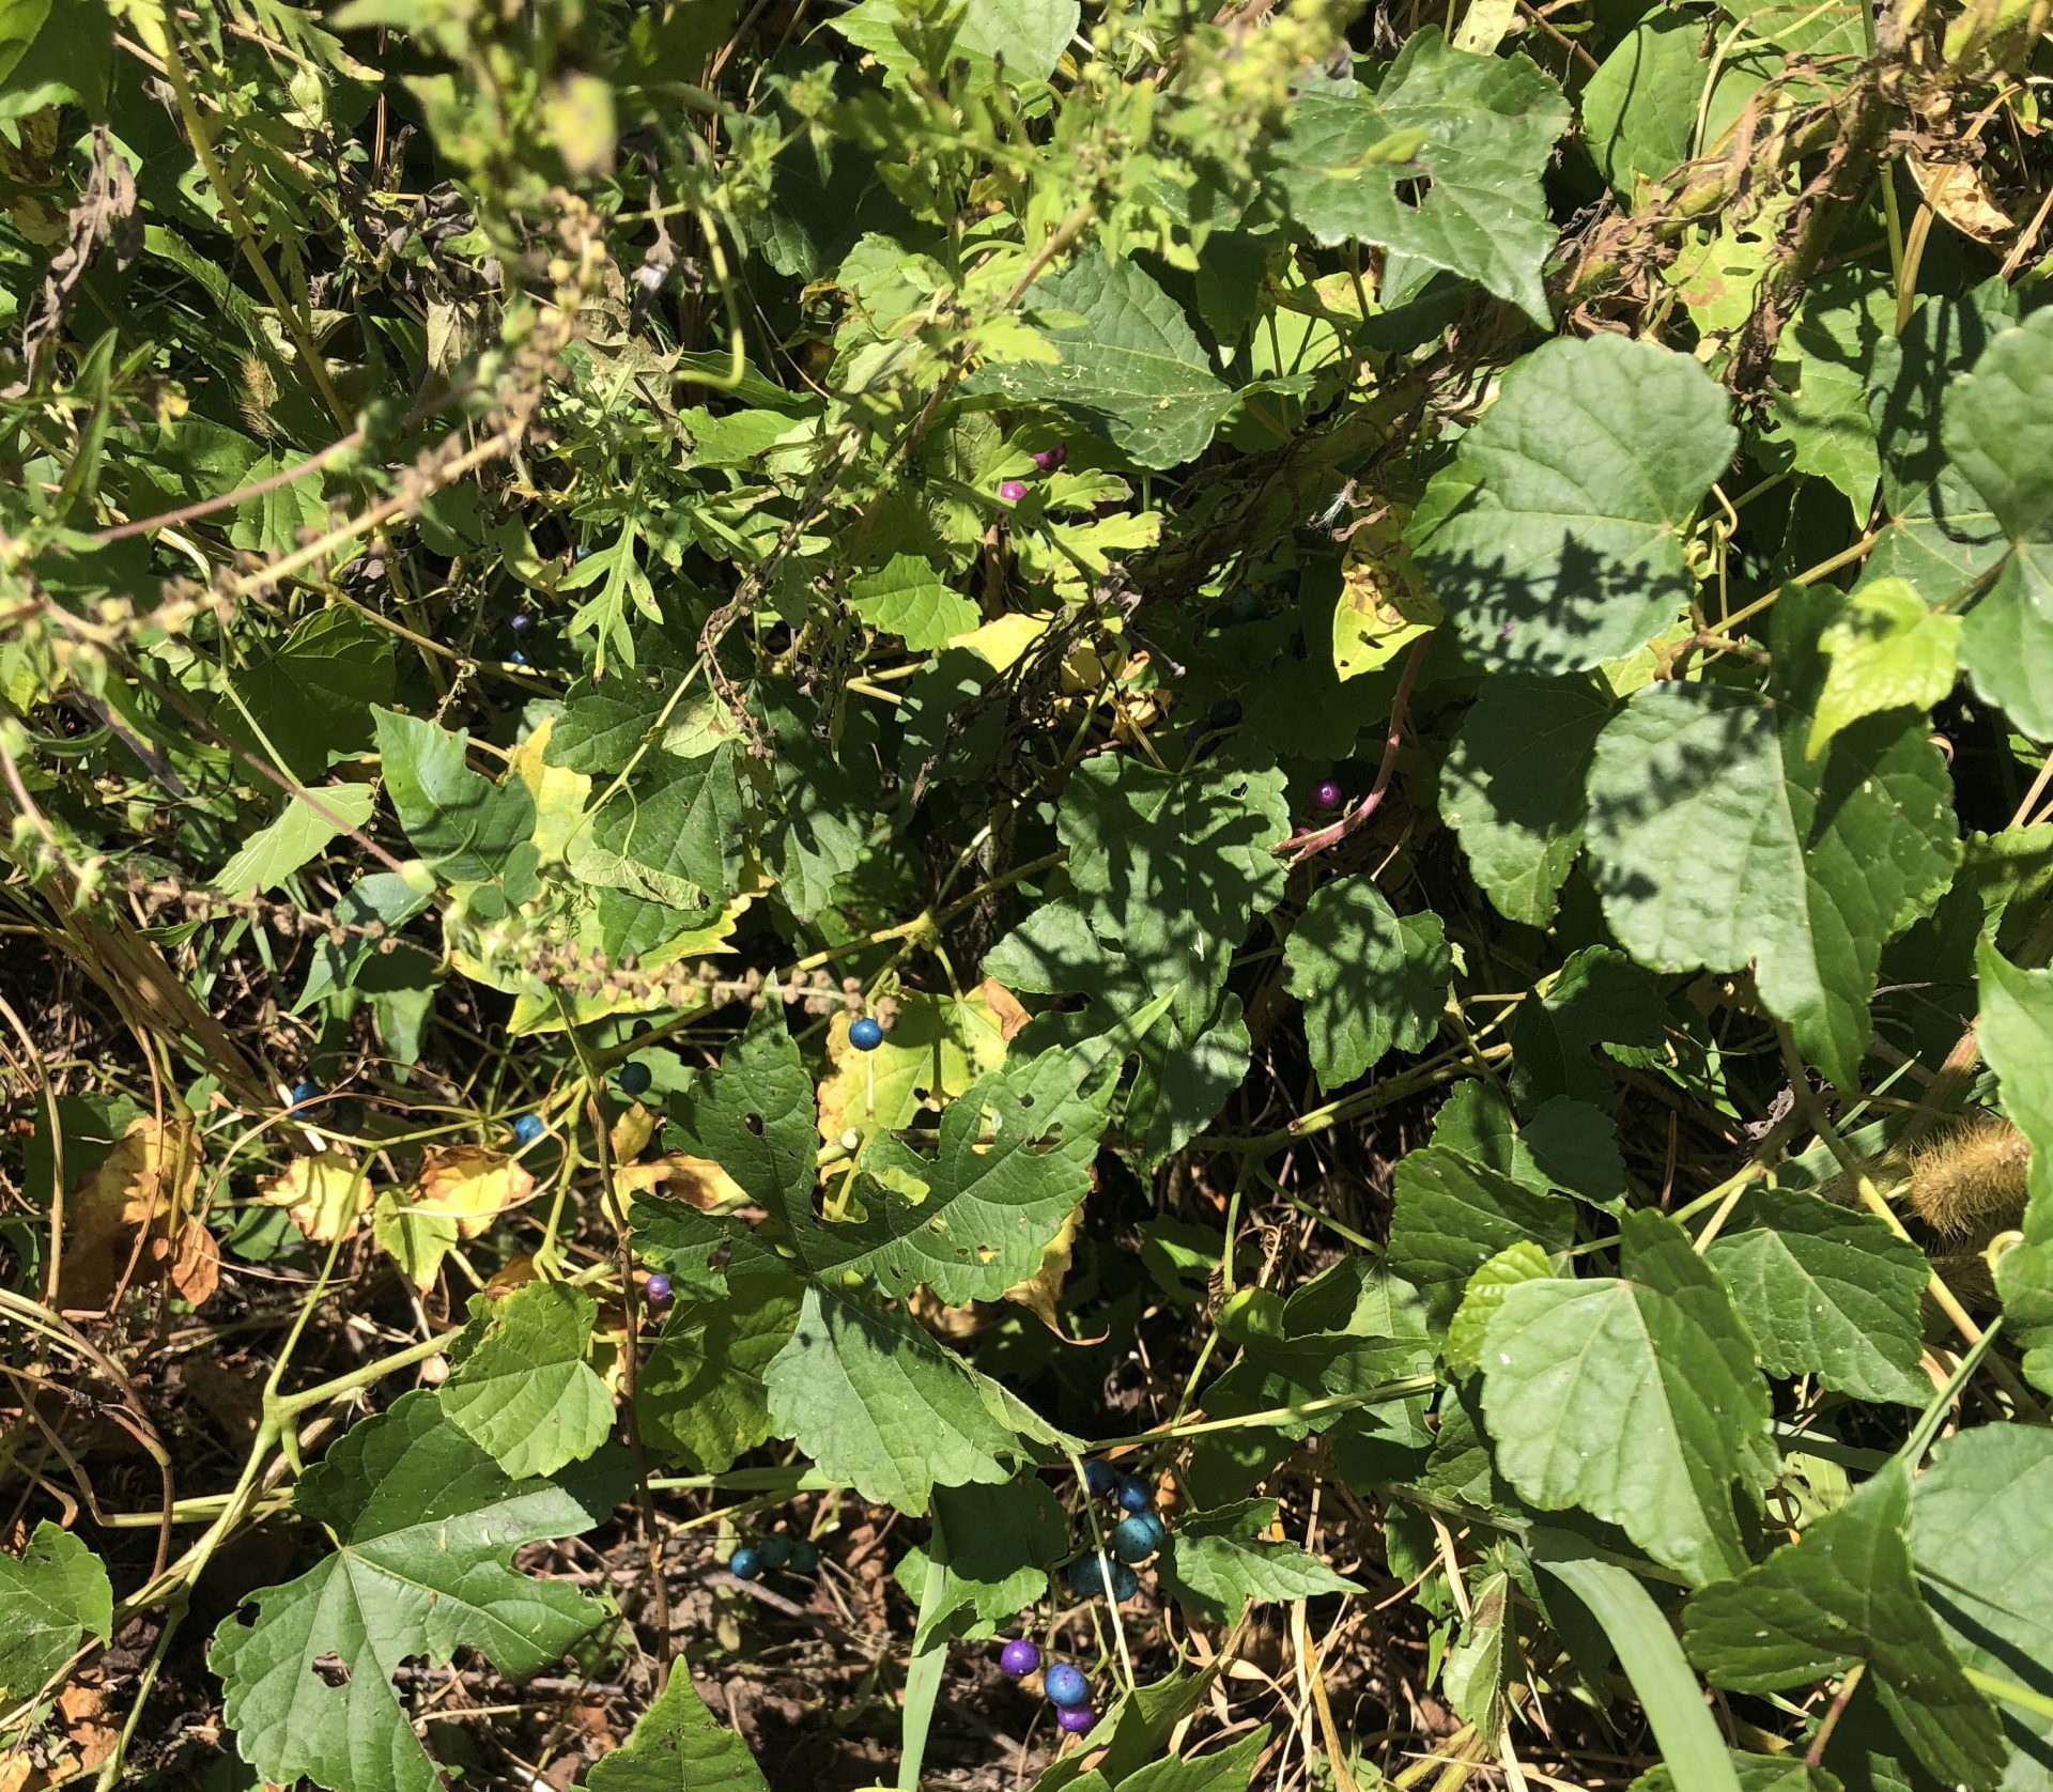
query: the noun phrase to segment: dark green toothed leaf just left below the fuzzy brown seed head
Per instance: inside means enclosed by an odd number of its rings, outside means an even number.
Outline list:
[[[1815,1195],[1749,1195],[1704,1252],[1774,1375],[1817,1375],[1856,1400],[1924,1406],[1920,1371],[1930,1264],[1872,1213]]]

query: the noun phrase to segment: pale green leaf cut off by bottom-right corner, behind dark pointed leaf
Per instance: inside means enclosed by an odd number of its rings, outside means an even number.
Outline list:
[[[1963,1667],[2047,1693],[2053,1663],[2053,1433],[1981,1425],[1938,1445],[1911,1488],[1911,1560]],[[2006,1792],[2053,1786],[2053,1718],[2002,1706]]]

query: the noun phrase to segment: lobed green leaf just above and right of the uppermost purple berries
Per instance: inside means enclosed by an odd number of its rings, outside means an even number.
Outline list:
[[[1139,466],[1183,466],[1205,452],[1234,394],[1213,376],[1183,308],[1139,263],[1078,257],[1035,281],[1026,306],[1078,318],[1043,328],[1061,361],[990,361],[965,394],[1059,404]]]

